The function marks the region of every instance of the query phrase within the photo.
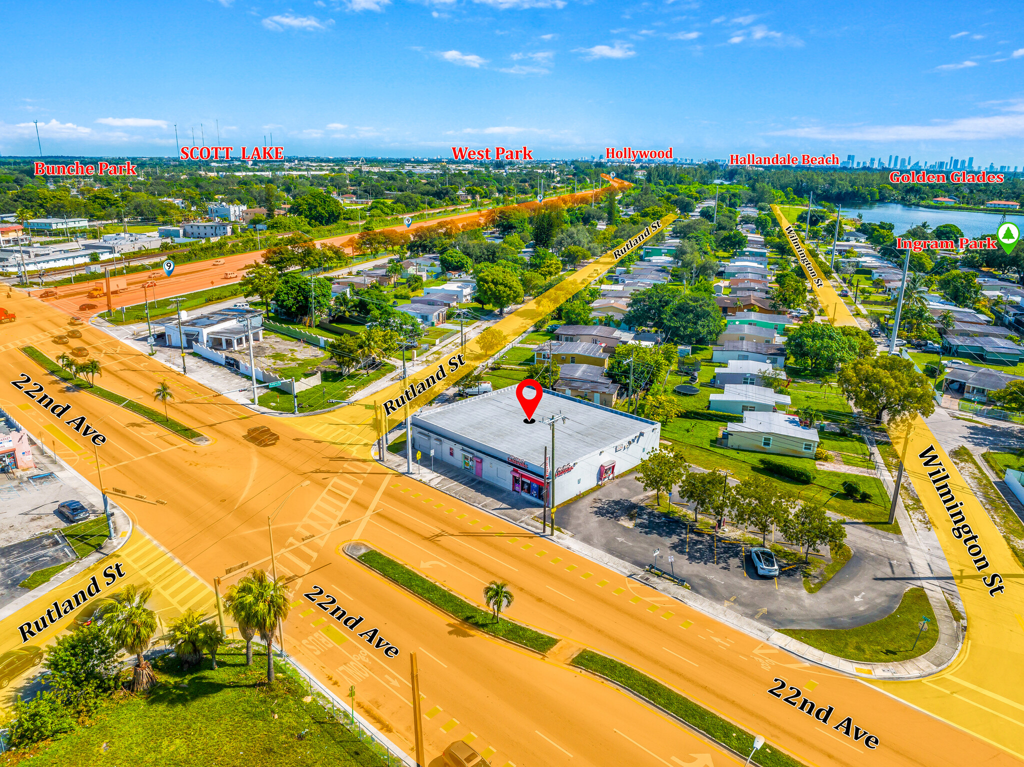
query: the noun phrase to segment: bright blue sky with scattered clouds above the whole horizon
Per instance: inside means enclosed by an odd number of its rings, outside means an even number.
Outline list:
[[[6,27],[0,153],[673,146],[1024,166],[1024,4],[81,0]],[[59,23],[50,14],[59,16]],[[49,18],[50,20],[46,20]],[[35,32],[33,32],[35,30]]]

